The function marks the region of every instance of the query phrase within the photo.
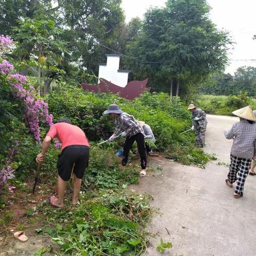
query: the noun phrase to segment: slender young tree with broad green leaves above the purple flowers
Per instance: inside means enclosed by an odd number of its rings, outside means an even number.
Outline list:
[[[38,66],[38,94],[48,92],[54,75],[60,71],[57,66],[60,64],[62,54],[66,52],[66,43],[59,39],[63,31],[55,28],[55,22],[46,17],[37,20],[29,18],[19,20],[18,26],[14,27],[13,31],[14,39],[19,42],[14,54],[21,60],[35,58]],[[44,86],[41,86],[43,73],[46,74],[44,74]]]

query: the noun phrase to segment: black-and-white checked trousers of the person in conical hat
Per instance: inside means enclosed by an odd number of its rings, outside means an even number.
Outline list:
[[[228,181],[234,183],[237,180],[235,193],[243,195],[244,182],[249,173],[251,158],[239,158],[237,156],[230,155],[230,167],[228,173]]]

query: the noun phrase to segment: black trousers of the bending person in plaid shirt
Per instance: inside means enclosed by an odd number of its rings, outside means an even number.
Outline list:
[[[123,151],[123,163],[127,163],[128,156],[130,149],[134,143],[134,141],[137,142],[138,151],[140,154],[140,162],[141,162],[141,169],[146,169],[147,167],[147,155],[146,155],[146,148],[145,148],[145,142],[144,142],[144,135],[142,133],[137,133],[131,137],[126,137],[126,140],[124,142],[124,151]]]

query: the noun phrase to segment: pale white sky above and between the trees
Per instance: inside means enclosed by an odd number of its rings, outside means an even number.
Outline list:
[[[126,22],[133,17],[143,18],[150,6],[162,7],[166,0],[122,0]],[[235,44],[229,50],[229,65],[225,72],[234,75],[241,66],[256,67],[256,1],[255,0],[207,0],[212,7],[210,19],[219,29],[229,31]],[[248,61],[248,60],[255,61]]]

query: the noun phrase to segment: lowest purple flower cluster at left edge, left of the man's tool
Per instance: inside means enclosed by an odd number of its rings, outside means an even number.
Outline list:
[[[16,142],[16,146],[19,146],[19,143]],[[19,154],[20,152],[18,150],[15,150],[13,148],[9,148],[9,155],[8,159],[0,171],[0,191],[3,189],[4,185],[8,188],[8,190],[13,193],[13,189],[15,187],[9,185],[8,180],[13,179],[15,176],[13,172],[15,169],[11,167],[12,163],[14,162],[13,156]]]

